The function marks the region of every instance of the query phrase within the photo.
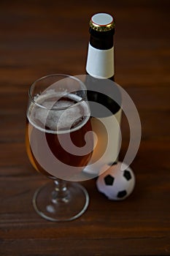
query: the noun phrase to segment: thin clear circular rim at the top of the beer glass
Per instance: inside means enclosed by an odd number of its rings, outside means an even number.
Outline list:
[[[84,95],[83,97],[81,97],[80,101],[76,102],[75,104],[69,105],[69,106],[67,106],[67,107],[62,107],[62,108],[56,108],[56,107],[55,107],[55,108],[47,108],[47,107],[45,107],[44,105],[39,104],[38,102],[36,102],[36,100],[34,100],[35,95],[34,95],[34,96],[31,95],[31,90],[34,88],[35,84],[36,84],[37,82],[39,82],[40,80],[43,80],[43,79],[45,79],[45,78],[55,77],[55,76],[58,76],[58,77],[59,77],[59,76],[62,76],[63,78],[65,77],[65,78],[72,78],[72,79],[74,79],[74,80],[77,80],[77,81],[82,85],[82,87],[83,87],[82,89],[80,89],[80,91],[81,91],[81,90],[82,90],[82,91],[85,91],[85,95]],[[78,90],[77,90],[77,91],[78,91]],[[72,92],[74,92],[74,91],[72,91]],[[71,92],[71,93],[72,93],[72,92]],[[45,76],[43,76],[42,78],[39,78],[39,79],[35,80],[34,83],[32,83],[31,86],[30,86],[30,88],[28,89],[28,97],[29,97],[29,99],[31,100],[31,102],[32,102],[34,105],[38,106],[39,108],[44,108],[44,109],[46,109],[46,110],[66,110],[66,109],[68,109],[68,108],[73,108],[74,106],[79,105],[81,102],[85,101],[85,98],[87,97],[87,88],[86,88],[86,86],[85,86],[85,83],[83,83],[82,80],[80,80],[79,78],[76,78],[74,75],[66,75],[66,74],[54,73],[54,74],[50,74],[50,75],[45,75]]]

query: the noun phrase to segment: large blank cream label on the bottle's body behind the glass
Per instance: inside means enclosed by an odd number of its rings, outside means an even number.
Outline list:
[[[104,165],[109,165],[117,161],[121,143],[121,113],[122,110],[120,108],[113,116],[91,119],[92,130],[96,133],[97,141],[94,141],[96,148],[93,151],[88,166],[84,169],[85,173],[98,176]],[[101,120],[104,127],[107,127],[107,130],[103,129],[101,124],[98,123],[98,120]]]

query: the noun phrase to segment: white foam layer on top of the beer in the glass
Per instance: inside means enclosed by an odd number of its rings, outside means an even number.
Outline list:
[[[28,110],[28,120],[34,127],[43,132],[61,134],[74,132],[86,124],[90,118],[90,110],[88,104],[81,101],[81,97],[75,94],[67,95],[67,98],[76,101],[76,104],[67,100],[56,101],[56,98],[58,94],[56,91],[54,94],[53,90],[34,97],[36,103],[32,103]]]

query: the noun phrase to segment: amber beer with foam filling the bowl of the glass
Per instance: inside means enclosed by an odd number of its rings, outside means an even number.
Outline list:
[[[51,173],[47,173],[47,170],[50,170],[51,160],[47,157],[47,148],[43,146],[43,141],[46,140],[45,143],[56,159],[66,165],[77,167],[81,171],[82,167],[90,161],[93,151],[93,136],[87,133],[91,131],[88,104],[85,101],[81,102],[80,97],[75,94],[68,94],[56,101],[53,95],[39,96],[36,102],[47,106],[47,109],[31,103],[27,111],[26,149],[31,164],[40,173],[51,177]],[[50,108],[53,106],[53,108],[50,110],[49,106]],[[88,143],[91,148],[88,154],[72,154],[73,145],[68,140],[69,135],[74,146],[81,148]],[[63,148],[61,141],[66,143],[69,151]],[[45,157],[47,157],[47,170],[41,165],[42,161],[45,161]],[[58,167],[56,164],[56,170]],[[60,171],[62,172],[62,170]]]

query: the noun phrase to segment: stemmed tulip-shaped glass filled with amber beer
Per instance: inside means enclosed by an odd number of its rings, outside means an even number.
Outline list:
[[[93,152],[86,88],[69,75],[47,75],[28,91],[26,150],[39,173],[50,178],[34,194],[36,212],[50,221],[69,221],[88,208],[81,180]]]

